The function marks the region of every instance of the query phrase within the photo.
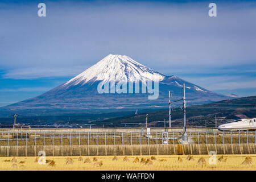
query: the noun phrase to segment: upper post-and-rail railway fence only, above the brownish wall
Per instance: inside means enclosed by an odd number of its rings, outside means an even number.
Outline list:
[[[67,132],[71,130],[72,132]],[[103,129],[102,129],[103,130]],[[188,141],[182,140],[183,131],[130,131],[119,129],[84,130],[57,129],[30,131],[1,131],[0,146],[110,146],[158,144],[249,144],[256,143],[256,131],[187,131]],[[51,131],[51,132],[49,132]],[[76,131],[76,132],[74,132]]]

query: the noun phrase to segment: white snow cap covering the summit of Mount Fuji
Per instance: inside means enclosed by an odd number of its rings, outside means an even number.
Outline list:
[[[162,81],[165,76],[125,55],[108,55],[92,67],[67,81],[63,86],[71,86],[94,81]]]

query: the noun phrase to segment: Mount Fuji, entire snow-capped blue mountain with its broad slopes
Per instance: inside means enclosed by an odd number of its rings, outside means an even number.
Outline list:
[[[154,83],[159,82],[159,97],[156,100],[148,100],[150,93],[142,93],[141,87],[148,80]],[[114,84],[122,82],[125,83],[123,84],[125,86],[129,85],[129,82],[139,82],[140,89],[138,93],[99,93],[98,85],[109,82],[110,89],[113,86],[111,86],[111,82]],[[172,93],[172,100],[182,97],[183,84],[186,86],[188,105],[232,99],[232,97],[211,92],[174,75],[163,75],[138,63],[129,56],[110,54],[64,84],[38,97],[5,106],[2,109],[16,110],[19,113],[27,111],[30,114],[47,114],[51,113],[51,110],[61,110],[66,113],[67,110],[73,113],[76,113],[76,110],[82,110],[93,113],[160,109],[168,107],[169,90]]]

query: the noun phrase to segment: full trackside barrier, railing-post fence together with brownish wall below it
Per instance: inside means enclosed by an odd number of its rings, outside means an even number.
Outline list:
[[[1,129],[1,156],[256,154],[256,131],[187,128]]]

